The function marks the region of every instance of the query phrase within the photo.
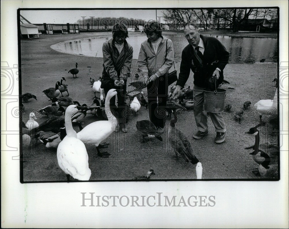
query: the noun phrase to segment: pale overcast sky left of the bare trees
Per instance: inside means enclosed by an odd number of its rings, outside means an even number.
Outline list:
[[[78,19],[82,20],[81,16],[155,19],[155,10],[21,10],[20,14],[32,24],[76,23]],[[157,16],[162,15],[162,10],[157,10]]]

